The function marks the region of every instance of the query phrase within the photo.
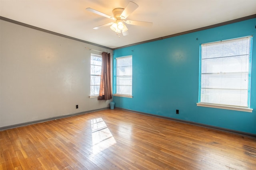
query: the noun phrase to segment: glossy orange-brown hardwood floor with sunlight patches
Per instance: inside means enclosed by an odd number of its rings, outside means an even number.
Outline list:
[[[1,170],[255,170],[256,139],[123,110],[0,132]]]

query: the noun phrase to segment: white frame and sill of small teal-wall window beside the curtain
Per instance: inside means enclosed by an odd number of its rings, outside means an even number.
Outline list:
[[[122,76],[120,76],[120,75],[118,75],[118,72],[117,72],[117,68],[118,68],[118,60],[122,60],[122,59],[126,59],[126,58],[131,58],[132,59],[132,55],[129,55],[129,56],[124,56],[124,57],[117,57],[116,58],[116,73],[115,73],[115,76],[116,76],[116,80],[115,80],[115,94],[113,94],[114,96],[119,96],[119,97],[126,97],[126,98],[132,98],[132,87],[131,87],[131,94],[118,94],[117,93],[117,86],[121,86],[121,85],[119,85],[119,84],[117,84],[117,79],[118,79],[118,77],[131,77],[131,79],[132,79],[132,72],[131,72],[131,75],[122,75]],[[128,65],[128,66],[131,66],[132,67],[132,63],[131,63],[131,65]],[[131,82],[131,84],[132,84],[132,82]],[[124,85],[124,84],[123,84]],[[124,85],[124,86],[132,86],[132,85]]]

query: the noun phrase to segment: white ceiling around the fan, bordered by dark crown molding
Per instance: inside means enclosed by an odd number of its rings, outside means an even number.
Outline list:
[[[116,35],[112,22],[86,11],[112,16],[129,1],[138,8],[128,20],[153,22],[152,27],[127,25],[129,35]],[[110,48],[156,39],[256,14],[256,0],[0,0],[0,16]],[[120,36],[120,37],[119,37]]]

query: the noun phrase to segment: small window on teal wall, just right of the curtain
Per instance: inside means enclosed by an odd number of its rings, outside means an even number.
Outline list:
[[[116,58],[116,94],[132,96],[132,56]]]

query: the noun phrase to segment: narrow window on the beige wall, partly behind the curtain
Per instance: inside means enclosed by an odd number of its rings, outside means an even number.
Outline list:
[[[100,92],[102,57],[91,54],[91,90],[90,96],[98,96]]]

